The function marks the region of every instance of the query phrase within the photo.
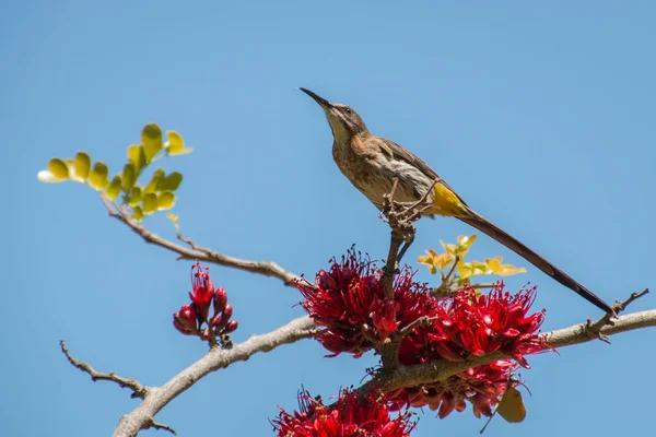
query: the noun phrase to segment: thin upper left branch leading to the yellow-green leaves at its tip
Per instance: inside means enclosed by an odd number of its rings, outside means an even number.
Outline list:
[[[239,258],[229,257],[227,255],[219,253],[208,248],[199,247],[195,245],[194,241],[191,241],[190,239],[183,238],[183,236],[179,234],[179,231],[178,239],[188,244],[190,248],[177,245],[148,231],[141,224],[137,223],[125,210],[112,204],[104,197],[101,198],[103,199],[105,206],[107,206],[107,212],[109,213],[109,216],[126,224],[137,235],[143,238],[145,243],[163,247],[165,249],[171,250],[172,252],[177,253],[178,259],[197,259],[204,262],[211,262],[218,265],[230,267],[233,269],[244,270],[250,273],[261,274],[265,276],[278,277],[286,286],[295,286],[295,281],[300,277],[296,274],[284,270],[283,268],[281,268],[272,261],[244,260]]]

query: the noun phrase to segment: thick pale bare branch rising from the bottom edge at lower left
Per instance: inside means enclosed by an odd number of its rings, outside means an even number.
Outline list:
[[[312,335],[314,322],[307,316],[292,320],[284,327],[253,335],[229,350],[213,349],[206,356],[174,376],[161,387],[149,387],[143,402],[132,412],[124,415],[114,437],[134,437],[141,429],[155,426],[155,415],[185,390],[208,374],[225,368],[233,363],[244,362],[258,352],[269,352],[283,344],[294,343]],[[157,424],[159,425],[159,424]]]

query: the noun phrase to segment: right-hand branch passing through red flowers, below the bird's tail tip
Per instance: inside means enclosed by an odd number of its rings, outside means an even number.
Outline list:
[[[620,332],[635,329],[656,327],[656,309],[633,312],[619,317],[612,324],[606,324],[600,329],[604,335],[613,335]],[[553,347],[571,346],[597,340],[590,335],[588,323],[578,323],[570,328],[559,329],[546,335],[549,344]],[[471,367],[490,364],[497,359],[506,359],[511,356],[503,352],[494,352],[481,357],[473,357],[464,362],[438,361],[417,366],[399,366],[391,371],[384,371],[379,376],[367,381],[358,390],[368,392],[372,389],[391,391],[403,387],[415,387],[435,381],[444,380]]]

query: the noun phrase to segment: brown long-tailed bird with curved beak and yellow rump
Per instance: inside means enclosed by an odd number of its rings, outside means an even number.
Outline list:
[[[307,88],[300,87],[300,90],[309,95],[326,113],[332,130],[335,163],[351,184],[378,210],[383,210],[385,196],[391,191],[397,179],[394,191],[396,202],[417,202],[425,197],[429,206],[422,211],[422,215],[455,217],[467,223],[513,250],[599,309],[614,314],[614,310],[600,297],[473,211],[420,157],[394,141],[372,134],[353,108],[340,103],[331,103]]]

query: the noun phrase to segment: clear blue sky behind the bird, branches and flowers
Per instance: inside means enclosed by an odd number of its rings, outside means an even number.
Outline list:
[[[185,174],[175,212],[197,243],[311,276],[352,243],[386,253],[388,231],[332,163],[329,127],[298,86],[352,105],[607,300],[654,285],[656,5],[436,3],[4,2],[0,434],[108,435],[137,405],[68,365],[59,339],[97,369],[149,386],[206,353],[171,326],[190,263],[108,220],[92,190],[38,182],[52,156],[84,150],[116,170],[156,121],[196,149],[164,164]],[[164,218],[145,223],[174,237]],[[455,220],[421,222],[408,260],[468,233]],[[485,237],[472,255],[526,265]],[[298,293],[274,280],[211,272],[235,307],[236,341],[301,315]],[[599,316],[534,268],[508,285],[528,280],[540,285],[546,330]],[[651,429],[653,343],[645,330],[532,357],[526,421],[495,420],[485,434]],[[267,418],[292,409],[302,383],[330,397],[375,363],[323,355],[305,341],[254,356],[157,418],[184,436],[273,435]],[[417,436],[483,425],[470,409],[420,417]]]

